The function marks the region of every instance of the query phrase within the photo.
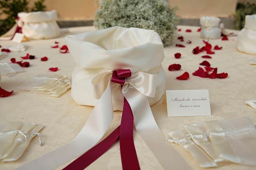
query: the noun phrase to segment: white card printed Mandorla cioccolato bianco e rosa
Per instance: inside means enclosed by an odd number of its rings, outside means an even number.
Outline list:
[[[168,117],[210,116],[209,90],[166,90]]]

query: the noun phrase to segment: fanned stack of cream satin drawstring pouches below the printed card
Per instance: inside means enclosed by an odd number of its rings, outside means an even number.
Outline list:
[[[191,153],[200,167],[225,161],[256,166],[256,128],[247,117],[188,124],[168,134],[168,141]]]

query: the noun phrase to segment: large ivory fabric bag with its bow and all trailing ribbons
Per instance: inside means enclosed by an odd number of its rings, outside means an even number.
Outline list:
[[[66,41],[77,64],[72,97],[79,105],[95,107],[75,139],[18,169],[54,169],[81,155],[65,169],[83,170],[118,139],[123,169],[140,169],[133,123],[164,169],[191,169],[165,140],[150,108],[165,92],[160,36],[152,30],[111,27],[69,35]],[[121,125],[98,143],[109,129],[114,110],[123,110]]]

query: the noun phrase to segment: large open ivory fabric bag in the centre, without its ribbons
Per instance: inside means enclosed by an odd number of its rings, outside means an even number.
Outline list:
[[[158,102],[165,92],[164,59],[160,36],[152,30],[111,27],[66,36],[67,45],[77,66],[72,75],[71,95],[79,105],[95,106],[92,79],[101,73],[116,69],[130,69],[132,74],[143,71],[157,75],[154,97],[150,105]],[[107,83],[107,82],[106,82]],[[112,89],[114,110],[123,109],[121,88]]]

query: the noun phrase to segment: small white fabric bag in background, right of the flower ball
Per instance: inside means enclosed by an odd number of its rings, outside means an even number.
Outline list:
[[[201,37],[206,39],[217,39],[221,37],[221,19],[218,17],[200,17]]]

